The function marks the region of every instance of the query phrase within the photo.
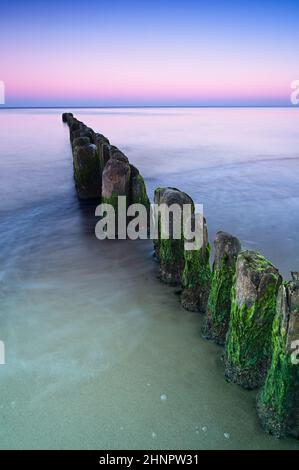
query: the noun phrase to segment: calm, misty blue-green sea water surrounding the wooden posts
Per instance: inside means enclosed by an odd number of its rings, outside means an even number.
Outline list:
[[[299,448],[260,429],[150,242],[99,242],[62,110],[0,111],[1,448]],[[298,109],[74,110],[217,230],[299,269]],[[164,399],[161,399],[162,398]],[[166,398],[166,399],[165,399]]]

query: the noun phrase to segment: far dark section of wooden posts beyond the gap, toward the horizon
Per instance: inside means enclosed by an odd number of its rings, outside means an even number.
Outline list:
[[[78,198],[109,203],[117,209],[118,196],[126,196],[128,204],[149,207],[144,179],[126,155],[72,113],[63,113],[62,120],[70,131]]]

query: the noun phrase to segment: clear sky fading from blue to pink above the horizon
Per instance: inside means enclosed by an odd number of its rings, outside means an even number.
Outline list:
[[[298,24],[298,0],[1,0],[5,105],[289,105]]]

